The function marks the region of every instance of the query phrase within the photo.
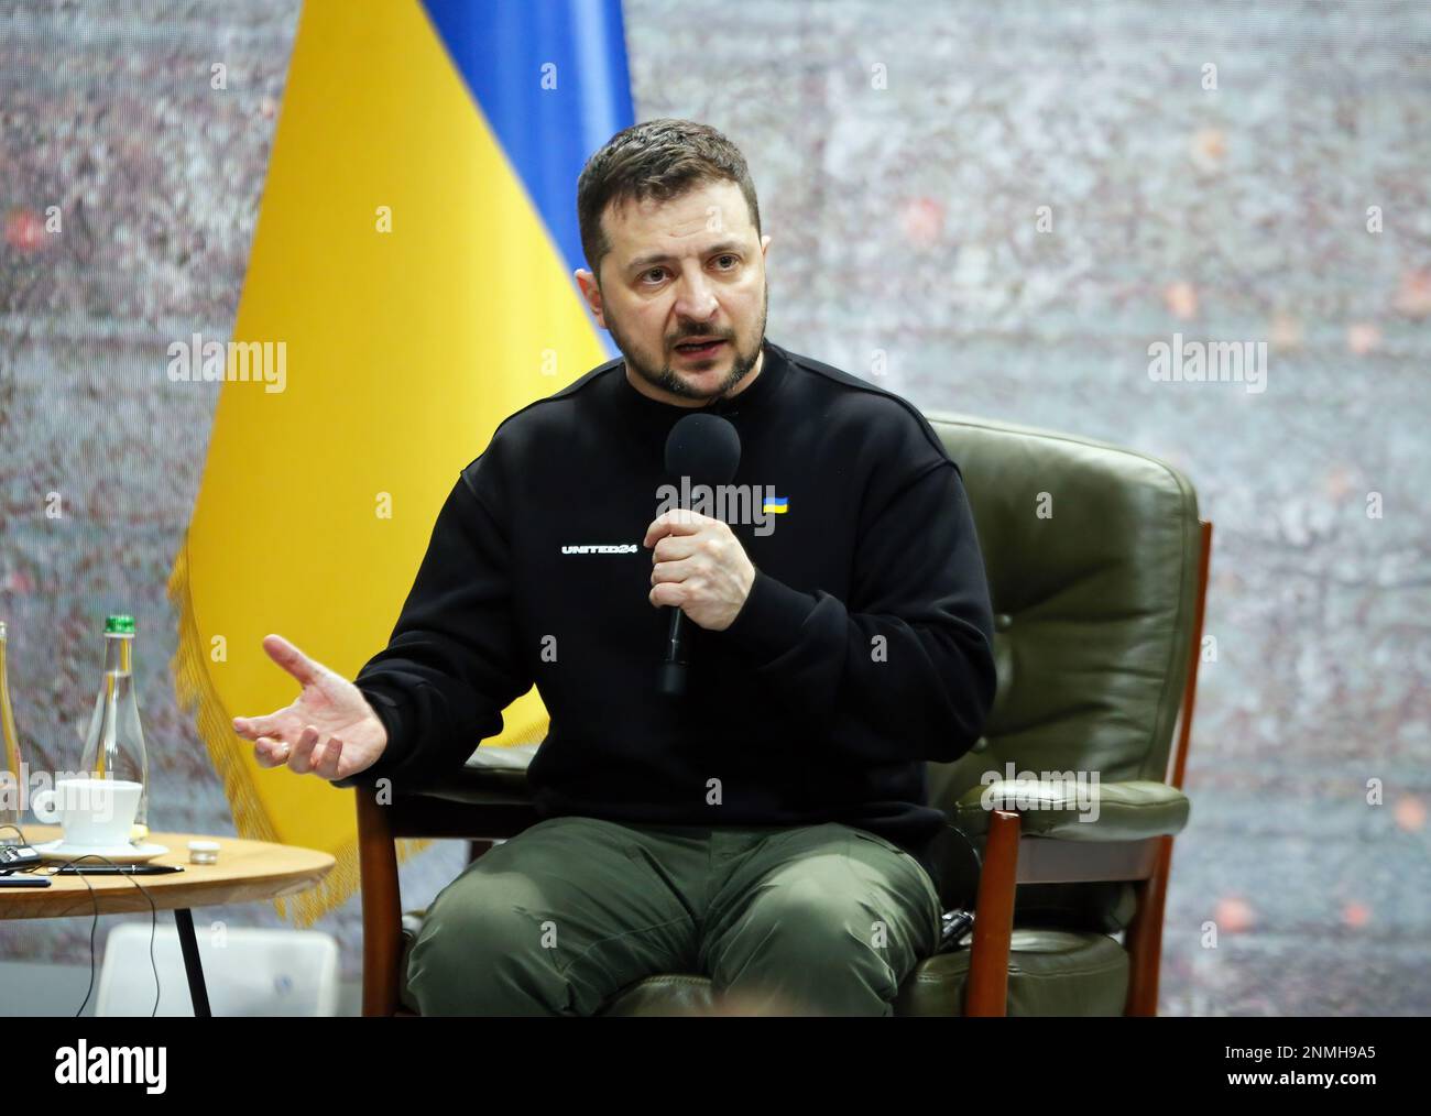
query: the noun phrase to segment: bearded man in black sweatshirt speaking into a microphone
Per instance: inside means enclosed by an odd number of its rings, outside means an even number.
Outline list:
[[[265,765],[401,788],[538,687],[544,820],[434,900],[424,1014],[592,1014],[655,973],[890,1014],[939,943],[924,763],[964,754],[995,692],[959,469],[909,403],[766,339],[770,236],[718,132],[618,133],[577,205],[575,278],[624,359],[501,424],[355,682],[270,635],[302,694],[235,728]],[[670,508],[665,439],[697,409],[738,432],[743,514]],[[657,688],[667,608],[681,697]]]

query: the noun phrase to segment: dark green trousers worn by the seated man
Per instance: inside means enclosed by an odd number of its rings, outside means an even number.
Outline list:
[[[438,893],[408,983],[425,1016],[590,1016],[657,973],[738,1013],[887,1016],[939,930],[924,867],[851,826],[554,817]]]

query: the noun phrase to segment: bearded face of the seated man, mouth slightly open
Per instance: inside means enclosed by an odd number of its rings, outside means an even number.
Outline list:
[[[601,285],[577,282],[625,356],[633,386],[661,402],[704,406],[758,375],[770,290],[766,249],[734,182],[697,186],[670,202],[628,200],[602,215],[611,250]],[[691,338],[714,349],[683,352]]]

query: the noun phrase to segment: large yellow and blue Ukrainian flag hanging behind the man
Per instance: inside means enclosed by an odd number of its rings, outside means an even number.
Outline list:
[[[355,810],[235,735],[233,715],[298,694],[260,641],[353,677],[458,471],[507,415],[614,355],[571,275],[575,189],[631,123],[618,0],[303,6],[233,329],[286,345],[283,391],[223,383],[169,581],[176,690],[239,836],[338,858],[292,911],[278,901],[298,924],[358,889]],[[488,744],[545,735],[535,691],[505,720]]]

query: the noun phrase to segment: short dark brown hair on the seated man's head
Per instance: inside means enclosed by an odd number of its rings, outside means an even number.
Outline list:
[[[601,280],[601,260],[611,240],[601,215],[611,202],[670,202],[697,186],[734,182],[746,195],[750,220],[760,236],[760,203],[746,156],[710,124],[660,117],[622,129],[587,160],[577,180],[577,225],[581,250],[591,273]]]

